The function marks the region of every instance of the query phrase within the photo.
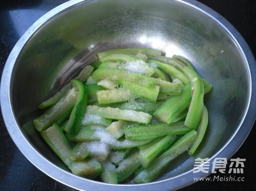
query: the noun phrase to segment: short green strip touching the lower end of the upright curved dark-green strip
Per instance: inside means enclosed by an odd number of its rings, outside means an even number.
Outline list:
[[[77,135],[66,134],[68,140],[75,142],[83,142],[88,140],[100,140],[93,127],[82,127]]]

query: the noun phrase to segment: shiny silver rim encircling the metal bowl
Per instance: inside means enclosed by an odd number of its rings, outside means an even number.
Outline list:
[[[106,184],[103,182],[98,182],[86,178],[78,177],[70,172],[64,171],[60,167],[54,165],[48,159],[46,159],[40,152],[38,152],[27,140],[25,135],[21,132],[20,127],[18,125],[18,121],[15,119],[13,115],[13,107],[11,102],[11,80],[12,80],[12,72],[13,68],[16,64],[17,58],[19,57],[20,52],[22,51],[23,47],[26,45],[27,41],[34,35],[34,33],[44,25],[49,19],[53,18],[56,14],[64,11],[65,9],[79,4],[83,1],[93,2],[96,0],[70,0],[66,3],[57,6],[53,10],[49,11],[45,15],[43,15],[40,19],[38,19],[28,30],[24,33],[24,35],[19,39],[16,45],[13,47],[9,57],[7,58],[7,62],[5,64],[2,78],[1,78],[1,87],[0,87],[0,103],[1,103],[1,111],[3,115],[4,122],[6,124],[7,130],[13,139],[16,146],[19,150],[25,155],[25,157],[40,169],[42,172],[46,173],[51,178],[61,182],[62,184],[71,186],[75,189],[82,190],[85,188],[88,190],[93,190],[95,186],[97,190],[118,190],[120,187],[125,190],[148,190],[148,189],[156,189],[159,188],[161,185],[161,189],[169,190],[169,189],[178,189],[187,185],[194,183],[194,179],[192,176],[192,170],[185,172],[181,175],[168,178],[161,181],[155,181],[147,184],[136,184],[136,185],[112,185]],[[239,126],[237,127],[236,132],[233,136],[227,141],[227,143],[222,146],[222,148],[215,153],[213,156],[210,157],[226,157],[230,158],[236,151],[242,146],[244,140],[247,138],[253,123],[256,118],[256,89],[252,87],[256,87],[256,78],[251,76],[256,76],[256,64],[254,56],[249,49],[249,46],[241,36],[241,34],[234,28],[233,25],[229,23],[226,19],[224,19],[220,14],[216,13],[214,10],[209,8],[208,6],[203,5],[200,2],[195,0],[175,0],[179,1],[180,3],[184,3],[188,6],[192,6],[193,8],[197,9],[198,11],[207,14],[211,19],[217,22],[229,35],[233,38],[238,45],[240,51],[243,53],[243,58],[247,62],[247,68],[249,69],[249,101],[248,106],[243,116],[243,120],[241,120]],[[242,128],[243,127],[243,128]],[[18,131],[17,131],[18,129]],[[242,137],[241,137],[242,136]],[[228,149],[229,148],[229,149]],[[58,169],[58,171],[52,171],[52,168]],[[211,167],[211,165],[210,165]],[[210,174],[210,173],[209,173]],[[197,177],[205,177],[209,174],[199,172],[197,173]],[[178,178],[181,176],[185,176],[183,181],[178,181]],[[74,179],[72,177],[76,177]],[[175,184],[170,184],[170,181],[174,181]],[[79,183],[79,184],[77,184]]]

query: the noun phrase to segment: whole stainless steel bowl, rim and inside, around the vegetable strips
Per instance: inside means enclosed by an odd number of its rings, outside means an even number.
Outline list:
[[[209,128],[195,156],[184,153],[152,183],[110,185],[69,172],[32,126],[37,106],[95,53],[150,47],[188,58],[213,84]],[[45,14],[13,48],[0,89],[2,114],[20,151],[48,176],[81,190],[170,190],[194,182],[195,158],[230,158],[256,117],[256,64],[241,35],[194,0],[71,0]],[[211,167],[211,166],[210,166]],[[197,177],[207,174],[199,172]]]

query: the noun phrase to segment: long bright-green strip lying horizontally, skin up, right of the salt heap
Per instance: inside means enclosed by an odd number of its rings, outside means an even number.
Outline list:
[[[191,129],[184,126],[183,121],[172,123],[152,124],[152,125],[138,125],[138,126],[125,126],[125,138],[128,140],[144,140],[161,137],[167,134],[186,134]]]

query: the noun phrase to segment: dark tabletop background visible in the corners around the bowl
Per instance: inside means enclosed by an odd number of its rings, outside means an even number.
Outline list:
[[[15,43],[43,14],[66,0],[3,0],[0,2],[0,76]],[[242,34],[256,55],[256,0],[199,0],[220,13]],[[243,182],[201,181],[181,190],[256,190],[256,125],[232,158],[246,159]],[[1,173],[2,172],[2,173]],[[3,174],[3,172],[6,172]],[[216,175],[216,174],[215,174]],[[217,173],[220,175],[220,173]],[[213,175],[210,175],[213,177]],[[221,175],[223,177],[223,175]],[[20,153],[0,114],[0,190],[72,191],[40,172]]]

